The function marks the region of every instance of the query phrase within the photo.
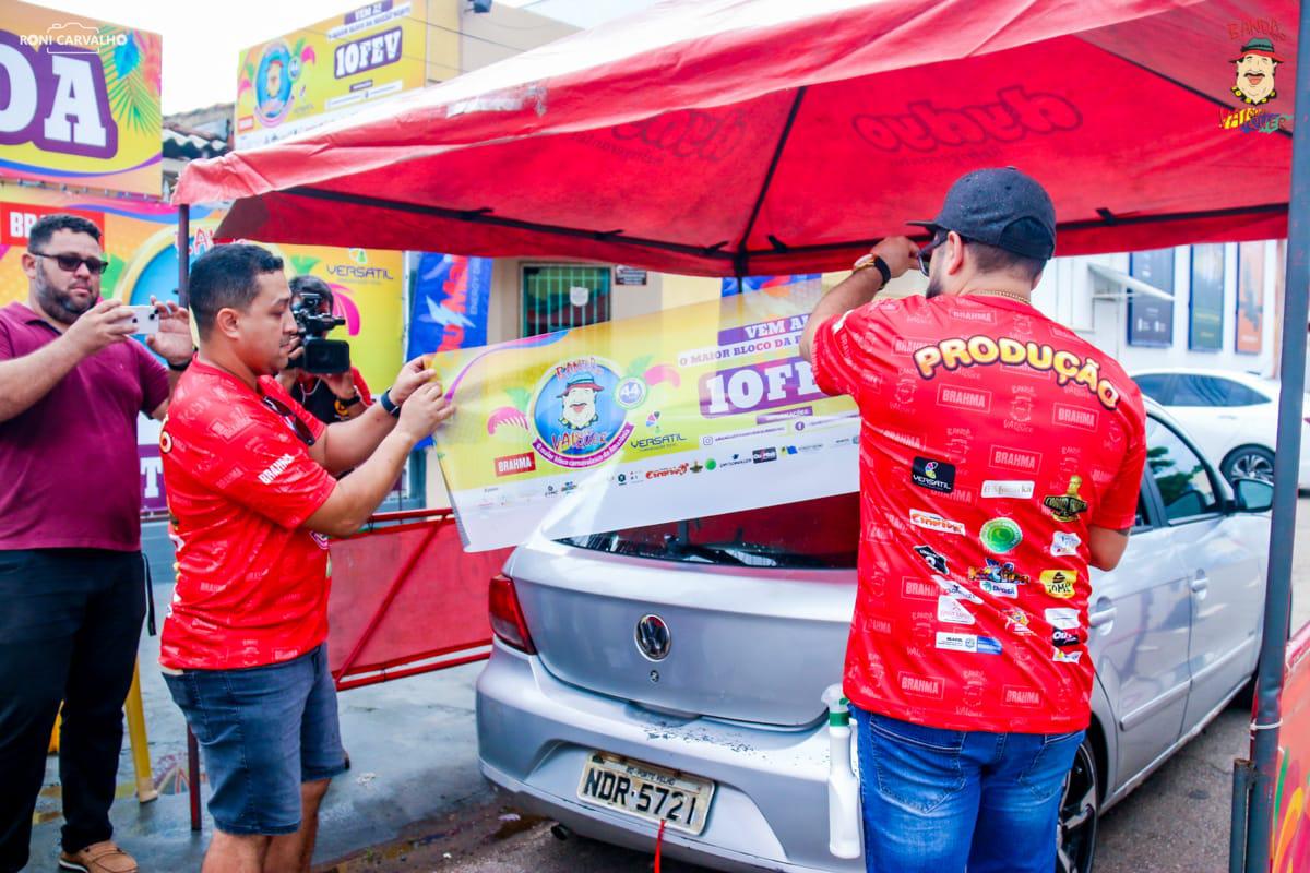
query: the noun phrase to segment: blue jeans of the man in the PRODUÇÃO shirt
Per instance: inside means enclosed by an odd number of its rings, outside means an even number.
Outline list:
[[[1083,732],[943,730],[852,707],[869,873],[1051,873]]]

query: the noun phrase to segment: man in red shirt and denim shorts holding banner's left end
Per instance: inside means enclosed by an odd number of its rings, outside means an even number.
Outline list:
[[[417,359],[356,419],[309,415],[272,378],[297,335],[291,297],[282,259],[259,246],[195,262],[200,349],[160,435],[178,560],[160,664],[208,774],[204,873],[308,872],[318,804],[346,767],[328,535],[355,533],[453,412]]]

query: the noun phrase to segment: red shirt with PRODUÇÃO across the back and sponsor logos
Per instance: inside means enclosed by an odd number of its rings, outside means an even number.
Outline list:
[[[846,696],[951,730],[1086,728],[1087,529],[1133,526],[1137,386],[990,294],[874,301],[820,326],[812,356],[862,419]]]

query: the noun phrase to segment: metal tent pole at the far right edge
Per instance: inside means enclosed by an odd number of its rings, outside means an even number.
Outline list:
[[[1251,760],[1255,766],[1247,817],[1246,869],[1267,873],[1273,825],[1273,787],[1277,780],[1279,725],[1292,611],[1292,546],[1296,538],[1297,484],[1301,466],[1301,428],[1306,381],[1306,293],[1310,259],[1310,14],[1302,9],[1297,43],[1294,136],[1292,140],[1292,196],[1288,202],[1288,266],[1282,308],[1282,387],[1279,393],[1279,444],[1273,459],[1273,522],[1269,537],[1269,572],[1264,593],[1264,639],[1256,670],[1255,721],[1251,722]]]

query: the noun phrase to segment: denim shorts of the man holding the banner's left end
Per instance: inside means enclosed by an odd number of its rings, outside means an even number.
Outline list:
[[[293,834],[300,784],[346,770],[328,645],[242,670],[164,675],[200,745],[210,814],[225,834]]]

